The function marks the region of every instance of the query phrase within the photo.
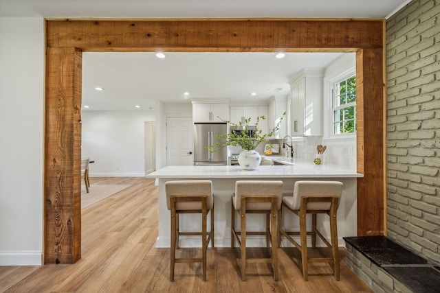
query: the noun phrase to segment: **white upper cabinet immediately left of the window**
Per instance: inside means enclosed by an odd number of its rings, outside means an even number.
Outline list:
[[[289,82],[292,136],[322,135],[324,69],[304,69]]]

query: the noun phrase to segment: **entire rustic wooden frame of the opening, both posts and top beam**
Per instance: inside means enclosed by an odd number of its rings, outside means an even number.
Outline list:
[[[358,235],[384,234],[383,19],[47,20],[44,263],[81,257],[83,51],[355,51]],[[364,143],[364,142],[368,143]]]

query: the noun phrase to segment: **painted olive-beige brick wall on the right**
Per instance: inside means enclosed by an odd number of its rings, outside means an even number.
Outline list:
[[[387,233],[440,263],[440,0],[386,23]]]

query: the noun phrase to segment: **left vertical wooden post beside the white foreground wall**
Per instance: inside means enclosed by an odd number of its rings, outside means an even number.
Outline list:
[[[47,49],[45,263],[81,257],[81,65],[78,49]]]

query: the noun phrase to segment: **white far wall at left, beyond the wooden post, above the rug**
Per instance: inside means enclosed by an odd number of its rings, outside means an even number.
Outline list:
[[[83,110],[81,121],[89,176],[145,176],[144,122],[155,121],[154,110]]]

